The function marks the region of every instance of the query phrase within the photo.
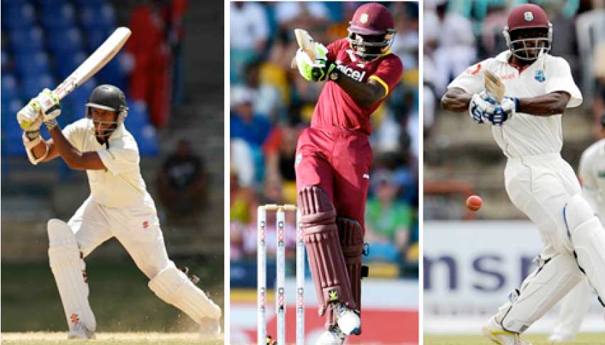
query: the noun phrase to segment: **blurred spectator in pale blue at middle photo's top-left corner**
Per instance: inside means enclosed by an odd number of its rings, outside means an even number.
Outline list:
[[[265,9],[261,4],[231,1],[229,6],[230,79],[235,84],[243,77],[243,67],[265,53],[269,26]]]

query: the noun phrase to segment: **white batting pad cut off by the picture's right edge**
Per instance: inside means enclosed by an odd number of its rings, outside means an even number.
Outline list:
[[[574,195],[564,209],[565,221],[578,265],[605,303],[605,229],[582,195]]]

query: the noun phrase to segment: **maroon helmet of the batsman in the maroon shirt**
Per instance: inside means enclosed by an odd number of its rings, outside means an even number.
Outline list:
[[[355,55],[365,61],[389,53],[397,32],[391,11],[377,3],[359,6],[347,31],[347,40]]]

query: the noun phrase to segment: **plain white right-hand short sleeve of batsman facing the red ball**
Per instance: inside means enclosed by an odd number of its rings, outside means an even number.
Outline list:
[[[574,82],[569,63],[564,58],[552,57],[549,59],[544,74],[546,75],[544,92],[547,94],[557,91],[567,92],[571,96],[567,108],[574,108],[582,104],[582,93]]]

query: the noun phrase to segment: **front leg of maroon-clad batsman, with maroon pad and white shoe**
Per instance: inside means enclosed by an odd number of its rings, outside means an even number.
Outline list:
[[[325,159],[301,154],[300,150],[296,161],[298,207],[305,229],[305,246],[320,315],[326,311],[327,315],[331,315],[330,310],[341,303],[354,309],[356,306],[336,226],[332,167]],[[359,319],[354,319],[343,314],[337,320],[344,334],[357,332]],[[328,320],[326,327],[332,327],[335,321]]]

